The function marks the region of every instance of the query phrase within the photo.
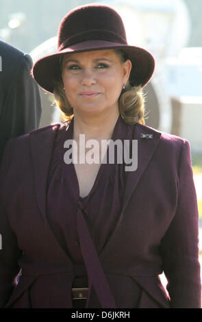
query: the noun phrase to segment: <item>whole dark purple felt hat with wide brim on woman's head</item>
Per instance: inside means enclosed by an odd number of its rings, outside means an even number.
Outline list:
[[[101,49],[125,51],[132,63],[131,86],[143,88],[151,79],[155,68],[153,55],[145,49],[129,45],[118,12],[96,3],[79,6],[64,16],[58,31],[56,53],[40,58],[31,73],[42,88],[53,93],[54,82],[61,75],[59,58],[62,54]]]

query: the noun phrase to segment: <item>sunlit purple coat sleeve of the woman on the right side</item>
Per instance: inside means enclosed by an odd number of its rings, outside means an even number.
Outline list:
[[[181,147],[177,208],[161,252],[171,308],[201,308],[199,212],[188,140]]]

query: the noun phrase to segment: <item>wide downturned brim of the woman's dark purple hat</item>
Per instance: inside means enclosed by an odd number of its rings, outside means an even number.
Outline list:
[[[151,79],[155,60],[149,51],[131,45],[122,45],[116,42],[103,40],[88,40],[79,42],[71,47],[65,48],[51,55],[40,58],[32,68],[32,75],[36,82],[47,92],[53,93],[55,79],[60,74],[59,58],[64,53],[81,53],[83,51],[94,51],[102,49],[123,49],[131,60],[132,69],[129,77],[131,86],[141,86],[142,88]]]

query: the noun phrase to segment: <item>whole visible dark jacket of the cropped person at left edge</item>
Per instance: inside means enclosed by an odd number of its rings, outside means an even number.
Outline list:
[[[9,138],[39,126],[42,108],[31,66],[30,55],[0,40],[0,162]]]

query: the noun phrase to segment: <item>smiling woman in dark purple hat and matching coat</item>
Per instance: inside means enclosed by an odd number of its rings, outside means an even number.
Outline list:
[[[66,121],[10,140],[3,156],[2,307],[201,307],[190,144],[144,125],[153,69],[112,8],[64,17],[57,53],[33,75]]]

